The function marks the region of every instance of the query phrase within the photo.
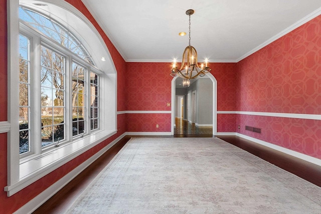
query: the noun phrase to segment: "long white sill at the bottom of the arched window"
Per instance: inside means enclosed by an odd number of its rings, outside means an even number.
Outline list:
[[[5,191],[7,191],[8,196],[17,193],[116,133],[116,130],[96,132],[93,135],[77,139],[66,145],[61,145],[56,150],[46,152],[21,163],[20,179],[12,185],[6,186]]]

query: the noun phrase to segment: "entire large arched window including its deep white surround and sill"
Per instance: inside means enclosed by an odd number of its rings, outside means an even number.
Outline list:
[[[8,196],[117,132],[102,37],[66,1],[42,2],[8,1]]]

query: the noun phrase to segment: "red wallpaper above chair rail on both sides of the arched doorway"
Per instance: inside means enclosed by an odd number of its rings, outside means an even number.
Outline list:
[[[218,82],[218,111],[235,111],[236,63],[209,63],[209,66]],[[170,71],[171,63],[127,63],[127,111],[170,111],[171,107],[167,107],[172,92]]]

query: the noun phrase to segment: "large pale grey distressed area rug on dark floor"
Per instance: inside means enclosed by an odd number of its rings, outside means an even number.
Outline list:
[[[321,188],[218,138],[132,138],[68,213],[321,213]]]

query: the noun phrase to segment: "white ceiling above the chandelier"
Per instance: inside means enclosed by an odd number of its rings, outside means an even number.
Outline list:
[[[82,0],[126,62],[238,62],[321,14],[320,0]]]

